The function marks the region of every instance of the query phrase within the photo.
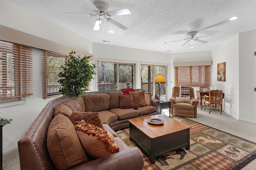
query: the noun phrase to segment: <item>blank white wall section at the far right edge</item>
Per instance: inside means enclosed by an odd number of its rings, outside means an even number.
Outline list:
[[[256,123],[256,29],[239,34],[239,119]]]

